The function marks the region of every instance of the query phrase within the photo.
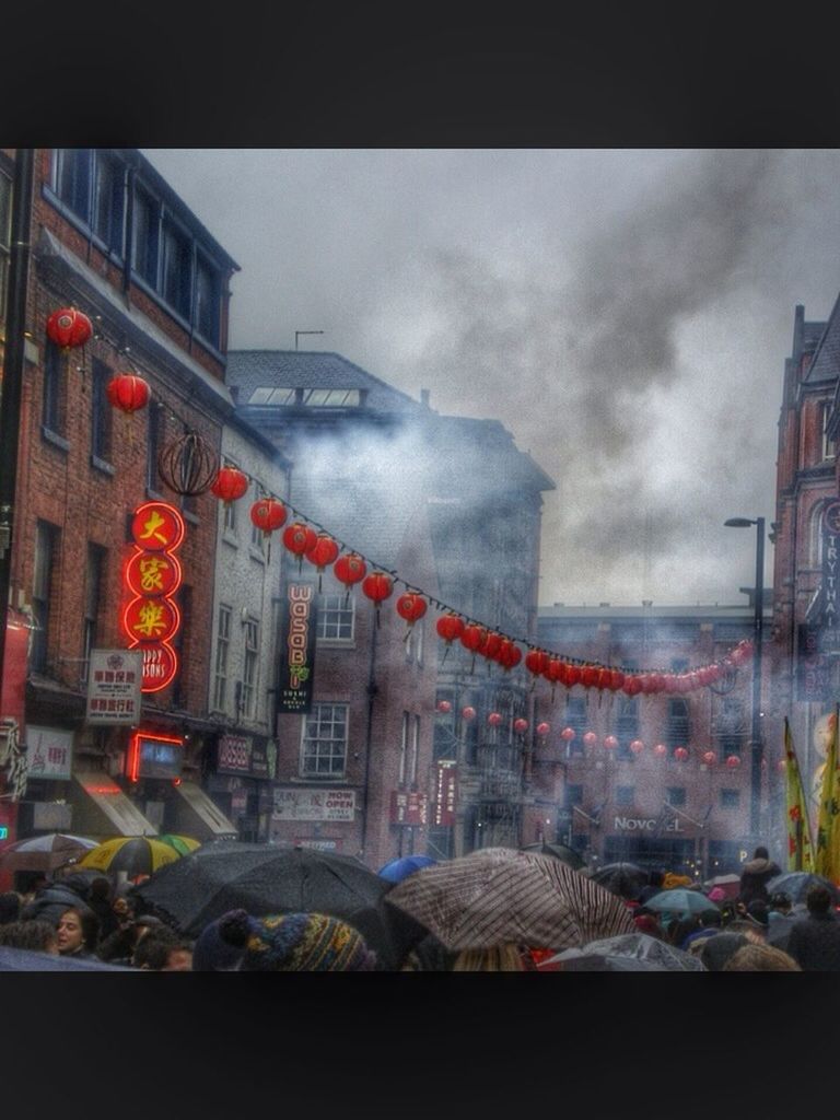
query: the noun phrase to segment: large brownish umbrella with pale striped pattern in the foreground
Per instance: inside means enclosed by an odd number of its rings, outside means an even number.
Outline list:
[[[422,923],[450,951],[510,942],[569,949],[633,933],[629,909],[562,860],[512,848],[482,848],[398,883],[391,906]]]

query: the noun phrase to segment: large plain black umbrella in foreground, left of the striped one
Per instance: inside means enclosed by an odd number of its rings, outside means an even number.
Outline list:
[[[256,917],[330,914],[358,930],[381,968],[394,969],[428,931],[383,905],[391,887],[349,856],[234,842],[205,846],[161,867],[132,894],[190,936],[239,907]]]

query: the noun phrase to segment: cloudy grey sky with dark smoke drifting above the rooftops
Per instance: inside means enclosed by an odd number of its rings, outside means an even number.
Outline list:
[[[142,149],[239,263],[232,349],[334,351],[554,480],[540,605],[744,604],[840,149]],[[772,582],[767,542],[765,586]]]

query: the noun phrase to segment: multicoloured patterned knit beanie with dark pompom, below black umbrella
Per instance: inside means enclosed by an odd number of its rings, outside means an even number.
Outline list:
[[[271,914],[253,917],[233,911],[220,918],[218,933],[242,946],[244,972],[371,972],[375,954],[361,933],[327,914]]]

